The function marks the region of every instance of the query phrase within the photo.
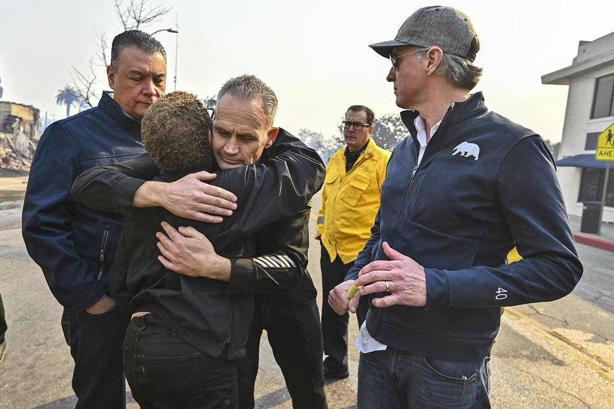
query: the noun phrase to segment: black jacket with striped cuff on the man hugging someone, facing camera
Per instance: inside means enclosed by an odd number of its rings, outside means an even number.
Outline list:
[[[149,156],[149,155],[147,155]],[[289,162],[288,159],[291,159]],[[270,148],[263,151],[260,164],[255,169],[266,169],[263,164],[270,167],[270,172],[287,169],[292,178],[300,175],[309,175],[313,181],[304,191],[293,191],[297,196],[311,197],[324,183],[325,167],[316,151],[306,147],[297,137],[279,128],[279,134]],[[290,166],[290,167],[289,167]],[[228,171],[228,170],[227,170]],[[72,194],[88,207],[107,212],[131,215],[134,192],[146,180],[158,175],[160,169],[153,161],[128,161],[124,164],[114,164],[96,169],[90,169],[79,175],[72,186]],[[280,179],[284,182],[284,179]],[[280,183],[275,192],[280,194]],[[292,188],[294,189],[294,188]],[[266,235],[270,245],[265,248],[268,254],[258,253],[262,258],[231,258],[232,272],[229,292],[286,292],[292,289],[298,297],[291,297],[295,302],[314,297],[316,289],[311,277],[306,274],[306,260],[309,240],[304,237],[306,208],[301,209],[301,215],[295,215],[286,223],[278,222],[273,225],[273,234]],[[257,234],[258,236],[260,234]],[[262,242],[263,240],[258,240]],[[270,250],[274,248],[275,250]],[[285,254],[292,259],[293,264],[286,266],[266,259],[268,256]],[[297,283],[301,289],[294,289]]]

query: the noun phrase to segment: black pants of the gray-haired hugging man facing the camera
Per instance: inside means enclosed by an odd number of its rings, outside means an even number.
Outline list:
[[[260,336],[266,329],[275,361],[281,368],[293,408],[327,408],[322,370],[322,328],[316,299],[301,304],[276,300],[278,294],[254,296],[254,321],[237,362],[239,409],[254,408]]]

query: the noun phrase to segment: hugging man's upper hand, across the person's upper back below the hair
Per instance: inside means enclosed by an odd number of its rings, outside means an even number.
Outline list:
[[[221,223],[222,218],[213,215],[232,215],[232,211],[236,209],[236,196],[227,190],[201,182],[214,178],[216,174],[203,170],[185,175],[171,183],[145,182],[134,192],[132,205],[161,206],[177,216],[206,223]]]

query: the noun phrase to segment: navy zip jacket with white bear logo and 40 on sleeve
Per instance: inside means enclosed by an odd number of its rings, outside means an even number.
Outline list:
[[[386,200],[346,278],[387,260],[388,242],[424,267],[427,302],[370,305],[371,336],[411,353],[479,361],[491,351],[501,307],[569,294],[582,266],[540,136],[489,112],[476,93],[451,105],[417,164],[417,115],[401,113],[411,136],[392,152]],[[515,245],[523,259],[505,265]]]

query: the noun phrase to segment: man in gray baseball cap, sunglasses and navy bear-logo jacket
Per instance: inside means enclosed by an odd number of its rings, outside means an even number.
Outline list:
[[[328,297],[339,314],[370,301],[358,407],[489,408],[501,308],[558,299],[582,274],[554,160],[470,94],[482,69],[465,14],[424,7],[370,47],[391,59],[410,135],[388,162],[371,238]],[[515,245],[523,259],[505,264]]]

